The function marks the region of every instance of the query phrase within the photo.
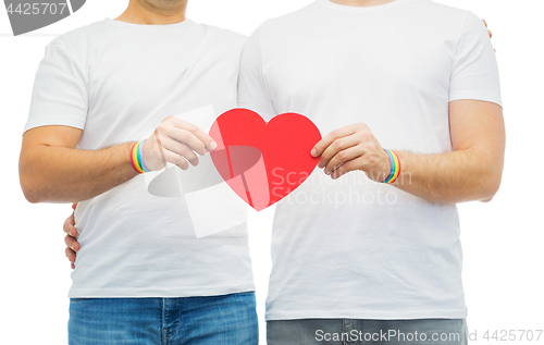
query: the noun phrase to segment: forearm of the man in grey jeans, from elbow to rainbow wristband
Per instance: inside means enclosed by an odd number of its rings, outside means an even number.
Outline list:
[[[503,158],[477,147],[441,155],[397,151],[396,187],[437,204],[489,201],[500,185]]]

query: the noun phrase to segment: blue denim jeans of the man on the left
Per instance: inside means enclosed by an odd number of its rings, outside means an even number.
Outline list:
[[[69,344],[254,345],[255,293],[182,298],[72,298]]]

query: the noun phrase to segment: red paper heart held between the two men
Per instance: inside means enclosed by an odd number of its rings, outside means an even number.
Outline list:
[[[295,190],[319,161],[310,150],[321,134],[296,113],[277,115],[267,124],[251,110],[233,109],[215,120],[210,136],[218,143],[211,152],[215,169],[257,211]]]

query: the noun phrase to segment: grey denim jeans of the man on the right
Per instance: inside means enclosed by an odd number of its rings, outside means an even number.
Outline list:
[[[465,319],[304,319],[267,322],[268,345],[466,345]]]

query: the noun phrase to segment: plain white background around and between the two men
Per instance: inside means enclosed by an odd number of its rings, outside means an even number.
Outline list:
[[[190,0],[188,17],[249,35],[264,20],[312,0]],[[542,0],[440,0],[486,19],[500,67],[508,147],[503,186],[491,204],[461,205],[465,289],[472,344],[493,344],[486,330],[544,329],[542,201]],[[71,284],[63,220],[69,205],[30,205],[21,192],[17,160],[34,76],[55,35],[115,17],[126,0],[89,0],[74,15],[13,37],[0,8],[1,294],[0,343],[63,344]],[[401,30],[401,27],[398,28]],[[252,214],[250,246],[257,281],[261,344],[272,210]],[[504,342],[502,342],[504,343]],[[537,344],[537,342],[509,342]],[[544,334],[540,344],[544,344]]]

